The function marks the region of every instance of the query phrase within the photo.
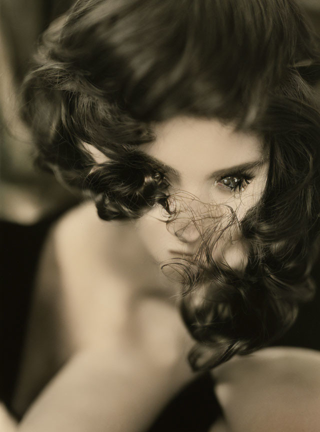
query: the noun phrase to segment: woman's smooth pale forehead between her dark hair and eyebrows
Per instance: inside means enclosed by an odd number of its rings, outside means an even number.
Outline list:
[[[216,119],[174,117],[154,125],[156,139],[141,150],[181,175],[203,177],[224,167],[260,160],[262,141]]]

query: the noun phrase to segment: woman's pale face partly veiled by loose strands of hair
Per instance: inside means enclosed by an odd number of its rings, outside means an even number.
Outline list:
[[[165,165],[167,193],[172,209],[179,211],[164,223],[170,215],[157,204],[134,223],[148,253],[160,263],[196,252],[210,226],[218,232],[230,220],[230,207],[241,220],[262,194],[268,160],[258,137],[234,132],[217,120],[181,116],[154,129],[156,140],[139,149]],[[223,254],[230,265],[237,262],[236,250],[243,252],[236,226],[229,228],[228,239],[223,234],[216,243],[214,257]]]

